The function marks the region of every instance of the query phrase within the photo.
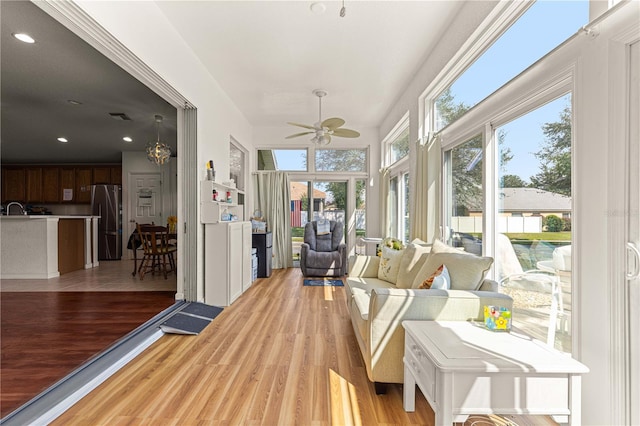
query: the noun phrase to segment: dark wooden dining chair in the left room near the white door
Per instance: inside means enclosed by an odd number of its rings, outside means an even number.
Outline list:
[[[147,272],[155,273],[156,269],[161,270],[166,279],[167,273],[175,270],[173,254],[176,251],[175,245],[169,244],[168,228],[138,224],[137,229],[144,250],[144,257],[138,268],[140,279],[144,279]]]

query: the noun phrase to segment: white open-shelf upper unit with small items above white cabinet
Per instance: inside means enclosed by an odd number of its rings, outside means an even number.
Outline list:
[[[202,223],[244,220],[244,191],[212,180],[200,183]]]

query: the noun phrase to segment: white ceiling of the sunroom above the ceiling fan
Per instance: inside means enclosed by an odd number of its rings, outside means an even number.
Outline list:
[[[158,6],[254,126],[323,118],[377,127],[458,1],[162,1]]]

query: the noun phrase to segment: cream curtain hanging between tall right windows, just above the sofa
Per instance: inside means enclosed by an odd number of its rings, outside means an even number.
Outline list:
[[[440,237],[440,167],[439,136],[426,143],[416,142],[416,178],[411,204],[411,238],[432,241]]]

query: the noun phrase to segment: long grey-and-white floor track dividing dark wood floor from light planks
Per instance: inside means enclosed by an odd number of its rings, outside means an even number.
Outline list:
[[[98,387],[129,361],[159,340],[164,333],[160,324],[184,308],[175,304],[115,342],[39,395],[0,419],[0,425],[49,424],[73,404]]]

